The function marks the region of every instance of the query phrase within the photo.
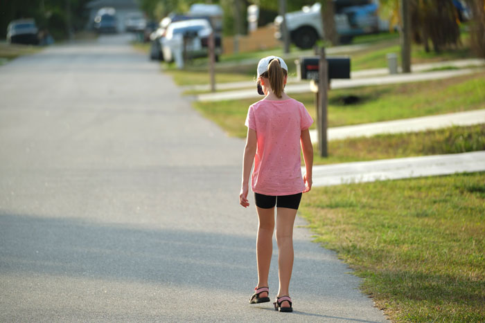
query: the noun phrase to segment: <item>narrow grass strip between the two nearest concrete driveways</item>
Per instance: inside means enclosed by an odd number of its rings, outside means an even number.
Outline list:
[[[485,150],[485,124],[449,127],[414,133],[398,133],[349,138],[328,142],[328,157],[319,156],[314,145],[314,164],[403,158],[439,154],[458,154]],[[303,158],[302,158],[303,160]]]

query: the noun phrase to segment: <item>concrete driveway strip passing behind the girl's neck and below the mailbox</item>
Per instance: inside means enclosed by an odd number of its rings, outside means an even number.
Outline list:
[[[400,84],[400,83],[410,83],[410,82],[423,82],[431,80],[442,80],[450,77],[457,77],[461,75],[467,75],[471,73],[476,73],[476,68],[464,68],[460,70],[452,71],[435,71],[435,72],[425,72],[417,74],[396,74],[396,75],[386,75],[386,76],[376,76],[367,77],[359,79],[350,80],[332,80],[330,86],[332,89],[349,89],[353,87],[360,86],[372,86],[372,85],[383,85],[383,84]],[[222,101],[222,100],[238,100],[238,99],[249,99],[249,98],[263,98],[256,91],[256,86],[253,84],[253,89],[240,89],[237,91],[225,91],[225,92],[215,92],[215,93],[202,93],[195,95],[195,100],[197,101]],[[310,92],[310,83],[298,83],[298,84],[287,84],[285,87],[285,92],[288,94],[294,93],[308,93]]]

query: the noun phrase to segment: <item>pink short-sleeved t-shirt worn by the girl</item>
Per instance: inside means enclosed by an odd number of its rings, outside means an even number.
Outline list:
[[[249,107],[246,126],[256,131],[253,192],[279,196],[305,190],[301,176],[301,131],[313,123],[305,106],[294,99],[261,100]]]

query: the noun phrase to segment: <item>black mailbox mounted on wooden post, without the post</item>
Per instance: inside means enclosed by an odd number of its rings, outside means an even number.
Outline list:
[[[297,68],[301,80],[318,81],[320,57],[301,57],[297,61]],[[349,79],[351,78],[351,59],[350,57],[327,57],[328,80]]]

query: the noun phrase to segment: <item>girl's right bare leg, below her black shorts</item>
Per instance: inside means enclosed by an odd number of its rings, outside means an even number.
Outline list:
[[[278,207],[276,215],[276,243],[278,243],[278,296],[290,295],[290,279],[293,269],[293,224],[297,210]],[[283,302],[281,307],[290,307]]]

